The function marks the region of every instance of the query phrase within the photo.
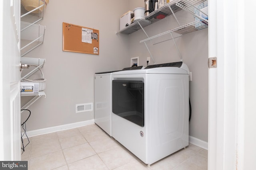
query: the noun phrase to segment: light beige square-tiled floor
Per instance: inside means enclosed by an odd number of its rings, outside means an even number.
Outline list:
[[[189,144],[148,167],[94,124],[31,137],[22,160],[29,170],[207,170],[207,155]]]

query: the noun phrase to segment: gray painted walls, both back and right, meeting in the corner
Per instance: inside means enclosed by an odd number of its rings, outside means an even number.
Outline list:
[[[115,34],[119,29],[120,16],[137,7],[144,7],[144,1],[113,0],[111,4],[107,1],[50,1],[42,21],[42,25],[46,25],[44,44],[24,56],[46,58],[43,70],[47,78],[47,97],[40,98],[29,108],[32,116],[27,123],[28,131],[93,119],[93,111],[75,113],[75,104],[94,101],[94,72],[128,67],[132,57],[139,57],[139,65],[147,65],[146,59],[150,55],[144,43],[139,43],[146,38],[142,30],[131,35]],[[95,11],[98,11],[98,14]],[[181,18],[181,25],[194,20],[186,12],[179,12],[177,17]],[[99,29],[100,55],[63,52],[62,22]],[[146,27],[145,31],[149,36],[153,36],[177,26],[171,16]],[[192,72],[192,118],[189,135],[207,142],[208,29],[184,35],[175,41],[183,62]],[[180,61],[172,40],[156,45],[147,42],[147,45],[156,64]],[[152,59],[150,64],[153,64]]]

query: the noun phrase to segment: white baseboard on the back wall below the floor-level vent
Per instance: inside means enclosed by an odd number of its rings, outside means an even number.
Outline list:
[[[76,123],[70,123],[70,124],[66,124],[66,125],[48,127],[48,128],[38,129],[38,130],[34,130],[34,131],[27,131],[26,134],[28,135],[28,137],[34,137],[34,136],[38,136],[38,135],[44,135],[47,133],[63,131],[63,130],[73,129],[76,127],[92,125],[92,124],[94,124],[94,119],[88,120],[88,121],[80,121],[80,122],[76,122]]]

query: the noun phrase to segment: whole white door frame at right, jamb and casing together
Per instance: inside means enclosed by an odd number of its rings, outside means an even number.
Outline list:
[[[244,1],[209,0],[209,18],[208,169],[243,169]]]

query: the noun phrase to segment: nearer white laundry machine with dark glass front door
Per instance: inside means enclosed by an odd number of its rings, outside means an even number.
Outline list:
[[[112,137],[148,165],[188,146],[188,75],[182,62],[112,74]]]

